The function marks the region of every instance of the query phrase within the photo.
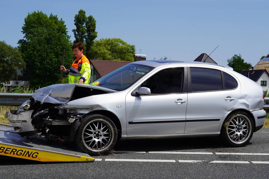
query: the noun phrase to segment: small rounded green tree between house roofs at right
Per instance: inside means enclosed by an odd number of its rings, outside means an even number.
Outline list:
[[[234,71],[241,73],[243,70],[249,70],[252,68],[250,63],[244,62],[244,59],[241,58],[242,56],[233,55],[231,59],[227,59],[228,66],[232,67]]]

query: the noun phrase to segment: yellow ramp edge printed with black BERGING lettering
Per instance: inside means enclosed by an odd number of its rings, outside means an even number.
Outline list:
[[[0,143],[0,155],[40,162],[93,162],[94,158]]]

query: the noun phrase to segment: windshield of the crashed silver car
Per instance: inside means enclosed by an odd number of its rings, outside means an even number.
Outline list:
[[[121,91],[128,88],[153,67],[140,64],[127,64],[101,77],[91,84]]]

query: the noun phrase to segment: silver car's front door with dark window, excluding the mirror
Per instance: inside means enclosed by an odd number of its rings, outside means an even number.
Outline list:
[[[184,68],[165,68],[138,84],[150,95],[126,95],[127,136],[183,134],[187,93]],[[185,90],[185,91],[184,91]]]

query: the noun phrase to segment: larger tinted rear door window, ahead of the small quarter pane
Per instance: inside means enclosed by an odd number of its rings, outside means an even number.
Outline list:
[[[192,92],[222,90],[221,71],[208,68],[190,68]]]

